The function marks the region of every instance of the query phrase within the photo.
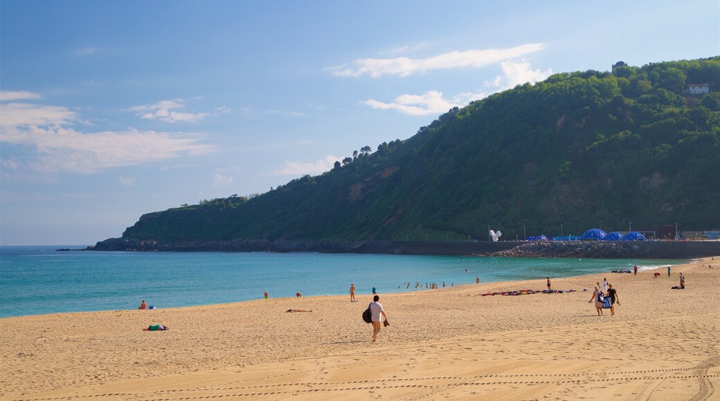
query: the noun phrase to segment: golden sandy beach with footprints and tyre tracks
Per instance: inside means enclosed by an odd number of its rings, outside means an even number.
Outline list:
[[[588,303],[603,277],[614,316]],[[390,326],[375,343],[367,294],[3,318],[0,398],[720,400],[720,257],[671,277],[551,278],[576,292],[480,296],[546,288],[530,280],[381,294]],[[156,323],[170,330],[143,331]]]

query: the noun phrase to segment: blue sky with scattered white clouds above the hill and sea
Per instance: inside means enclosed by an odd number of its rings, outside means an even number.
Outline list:
[[[719,4],[0,0],[0,245],[265,193],[553,73],[720,55]]]

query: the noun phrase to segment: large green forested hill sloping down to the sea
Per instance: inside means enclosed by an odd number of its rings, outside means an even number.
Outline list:
[[[608,65],[609,67],[609,65]],[[710,94],[688,84],[708,83]],[[502,239],[720,227],[720,57],[552,75],[268,193],[148,213],[124,239]],[[562,226],[561,226],[562,225]],[[562,227],[562,228],[561,228]]]

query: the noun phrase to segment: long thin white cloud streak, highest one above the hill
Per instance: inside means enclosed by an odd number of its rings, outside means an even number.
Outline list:
[[[450,68],[479,68],[485,65],[500,63],[544,49],[541,43],[529,43],[507,49],[453,51],[430,58],[412,59],[410,57],[395,58],[362,58],[354,60],[350,66],[331,68],[333,75],[359,77],[370,75],[377,78],[382,75],[407,76],[425,73],[429,70],[446,70]]]

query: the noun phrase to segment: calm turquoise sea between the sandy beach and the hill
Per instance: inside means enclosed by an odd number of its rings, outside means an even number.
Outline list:
[[[0,246],[0,318],[212,305],[263,298],[412,292],[482,282],[654,269],[688,260],[456,257],[269,252],[58,251],[85,245]],[[408,282],[410,287],[408,288]],[[416,287],[416,283],[420,287]],[[535,290],[540,290],[537,288]],[[568,288],[569,289],[569,288]],[[573,288],[581,290],[580,287]]]

